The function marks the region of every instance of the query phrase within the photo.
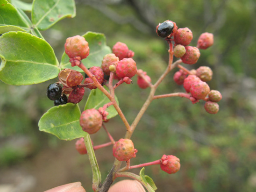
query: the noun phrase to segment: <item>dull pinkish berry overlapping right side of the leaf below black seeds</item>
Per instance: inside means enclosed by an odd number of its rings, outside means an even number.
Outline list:
[[[86,109],[80,116],[80,125],[85,132],[94,134],[102,126],[102,115],[96,109]]]

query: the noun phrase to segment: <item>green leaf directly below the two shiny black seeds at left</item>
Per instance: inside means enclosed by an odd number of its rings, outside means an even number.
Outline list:
[[[67,103],[50,108],[38,122],[40,131],[50,133],[62,140],[85,137],[79,123],[81,112],[77,104]]]

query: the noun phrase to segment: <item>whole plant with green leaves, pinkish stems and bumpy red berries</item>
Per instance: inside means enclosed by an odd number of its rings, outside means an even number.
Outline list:
[[[46,87],[46,95],[53,100],[54,107],[41,117],[40,131],[56,135],[61,140],[74,140],[80,154],[87,154],[92,167],[92,189],[107,192],[115,178],[128,177],[139,181],[149,192],[157,187],[153,180],[144,175],[145,166],[156,165],[169,174],[179,171],[182,159],[175,154],[159,156],[159,159],[144,164],[132,165],[132,159],[140,149],[132,141],[137,124],[150,103],[156,99],[181,97],[192,104],[205,102],[209,114],[219,111],[221,93],[211,90],[207,81],[213,78],[213,71],[207,66],[188,70],[186,65],[197,63],[200,49],[213,45],[213,34],[203,33],[196,46],[190,45],[193,34],[189,28],[178,28],[174,21],[164,21],[156,26],[156,35],[169,44],[169,62],[156,82],[152,82],[146,71],[141,69],[125,43],[117,42],[111,49],[106,45],[104,34],[87,32],[83,36],[67,38],[63,45],[64,54],[59,62],[40,33],[65,17],[75,16],[73,0],[34,0],[32,7],[7,0],[0,0],[0,79],[9,85],[31,85],[56,79]],[[49,9],[49,7],[52,7]],[[31,20],[24,11],[31,11]],[[173,62],[173,58],[177,60]],[[156,90],[172,70],[173,82],[184,86],[184,92],[157,95]],[[136,77],[135,77],[136,76]],[[126,85],[127,84],[127,85]],[[134,121],[129,124],[122,113],[115,95],[119,86],[136,86],[150,89],[148,98]],[[84,110],[79,103],[85,100],[85,89],[91,90]],[[107,131],[107,122],[119,115],[123,121],[124,136],[113,138]],[[94,146],[90,135],[105,129],[109,142]],[[100,168],[94,150],[113,145],[115,161],[107,178],[101,180]],[[125,165],[121,167],[122,162]],[[139,175],[130,169],[142,168]]]

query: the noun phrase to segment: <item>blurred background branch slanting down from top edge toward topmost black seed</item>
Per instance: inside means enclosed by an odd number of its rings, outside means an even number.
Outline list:
[[[143,23],[142,21],[139,21],[138,19],[136,19],[134,16],[130,15],[130,16],[122,16],[120,14],[117,14],[116,12],[114,12],[114,10],[110,9],[109,7],[107,7],[107,4],[104,3],[105,1],[101,1],[101,0],[76,0],[77,4],[85,4],[88,5],[98,11],[100,11],[102,14],[105,14],[109,19],[111,19],[112,21],[118,23],[119,25],[123,25],[123,24],[131,24],[134,26],[134,28],[136,28],[137,30],[139,30],[140,32],[144,33],[144,34],[149,34],[150,32],[152,32],[152,26],[149,25],[149,23]],[[152,23],[151,23],[152,25]],[[155,29],[155,25],[154,25],[154,29]]]

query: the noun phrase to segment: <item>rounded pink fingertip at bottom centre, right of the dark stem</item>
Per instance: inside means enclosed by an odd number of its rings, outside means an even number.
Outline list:
[[[108,192],[146,192],[142,184],[136,180],[125,179],[110,187]]]

